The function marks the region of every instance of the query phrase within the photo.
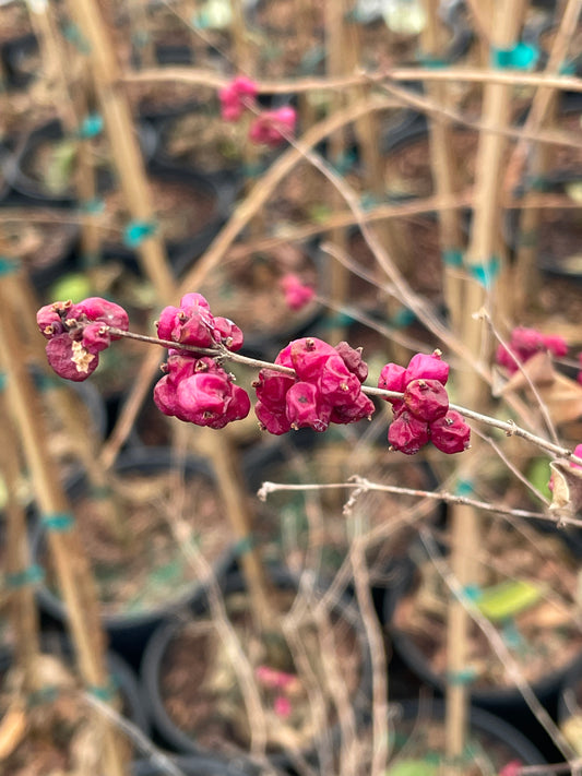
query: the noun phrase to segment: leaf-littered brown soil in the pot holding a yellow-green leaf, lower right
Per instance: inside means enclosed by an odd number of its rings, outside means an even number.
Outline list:
[[[475,573],[479,589],[510,580],[538,586],[536,600],[498,624],[506,646],[528,683],[568,666],[582,650],[582,631],[574,597],[578,561],[556,535],[528,532],[532,541],[507,525],[492,523],[484,535],[487,548]],[[431,561],[421,562],[412,593],[396,605],[391,625],[404,632],[426,656],[430,669],[442,674],[447,666],[446,586]],[[492,653],[476,625],[472,629],[468,665],[476,690],[512,688],[508,670]]]

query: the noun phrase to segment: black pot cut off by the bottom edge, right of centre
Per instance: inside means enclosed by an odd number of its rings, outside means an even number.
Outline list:
[[[417,700],[403,701],[396,704],[391,704],[391,708],[395,711],[395,719],[393,729],[399,739],[399,727],[402,729],[403,723],[415,723],[415,728],[423,733],[430,725],[430,720],[444,720],[444,703],[439,700],[431,700],[425,703],[419,703]],[[402,736],[402,733],[400,733]],[[470,736],[479,742],[480,748],[485,751],[488,759],[491,759],[494,773],[498,773],[503,765],[512,760],[519,760],[522,765],[545,765],[546,760],[542,753],[528,741],[519,730],[504,719],[497,717],[488,712],[472,706],[470,708]],[[399,750],[404,752],[411,750],[415,737],[414,728],[411,735],[402,736],[403,743],[399,745],[393,754],[394,764],[397,762]],[[499,749],[499,754],[502,760],[494,761],[496,748]],[[431,763],[435,761],[431,760]],[[390,764],[388,772],[390,773]],[[432,771],[430,772],[432,773]],[[542,772],[541,772],[542,773]]]

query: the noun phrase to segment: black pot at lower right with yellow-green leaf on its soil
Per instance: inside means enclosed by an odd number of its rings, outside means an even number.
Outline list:
[[[549,530],[550,528],[548,527]],[[420,542],[415,547],[419,553],[424,551]],[[394,652],[397,653],[399,658],[413,674],[439,694],[444,694],[444,677],[431,668],[429,658],[415,640],[392,622],[399,601],[414,589],[418,581],[416,562],[411,557],[407,557],[395,564],[392,569],[392,580],[393,585],[387,589],[383,600],[382,620]],[[530,685],[541,703],[545,706],[553,706],[557,701],[563,678],[569,671],[575,670],[580,666],[582,666],[582,650],[568,665],[561,668],[553,668],[545,676],[531,681]],[[472,703],[494,714],[506,717],[508,714],[519,713],[521,715],[526,709],[526,703],[516,687],[473,688],[470,684],[468,690]]]

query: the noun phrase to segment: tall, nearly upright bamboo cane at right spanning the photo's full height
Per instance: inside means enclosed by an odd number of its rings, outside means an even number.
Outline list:
[[[491,26],[492,45],[499,49],[511,49],[519,36],[524,15],[524,0],[503,3],[496,0]],[[502,127],[509,116],[511,87],[497,83],[485,86],[484,123]],[[499,193],[501,166],[507,147],[507,140],[500,134],[483,132],[479,141],[475,182],[475,208],[473,230],[466,254],[470,271],[489,274],[494,255],[499,254]],[[489,279],[489,294],[494,296],[495,283]],[[462,336],[464,345],[477,359],[486,357],[487,344],[484,338],[480,320],[474,318],[487,303],[485,286],[467,278],[465,284],[464,308],[462,313]],[[459,393],[468,406],[479,406],[486,399],[484,385],[473,371],[460,372]],[[468,479],[472,467],[477,465],[478,450],[465,456],[459,476]],[[477,514],[467,508],[453,508],[452,525],[452,569],[461,585],[466,587],[475,581],[476,570],[467,559],[477,557],[479,530]],[[448,673],[461,677],[466,669],[468,616],[459,601],[451,600],[448,623]],[[447,754],[454,759],[464,749],[467,725],[467,689],[462,682],[449,681],[447,685]]]

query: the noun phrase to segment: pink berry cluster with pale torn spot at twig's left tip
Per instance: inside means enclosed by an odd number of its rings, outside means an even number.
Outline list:
[[[58,301],[45,305],[36,313],[36,322],[46,345],[47,359],[61,378],[82,382],[99,363],[99,353],[112,339],[108,326],[128,331],[128,313],[122,307],[100,297],[90,297],[73,305]]]

